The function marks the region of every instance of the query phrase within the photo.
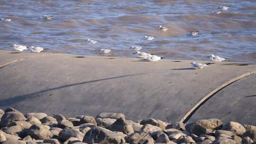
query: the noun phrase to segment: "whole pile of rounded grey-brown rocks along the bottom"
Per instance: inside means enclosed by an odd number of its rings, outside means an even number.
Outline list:
[[[0,109],[1,144],[256,144],[256,126],[220,119],[191,124],[146,118],[134,122],[123,114],[101,113],[65,118],[45,113],[23,115]]]

